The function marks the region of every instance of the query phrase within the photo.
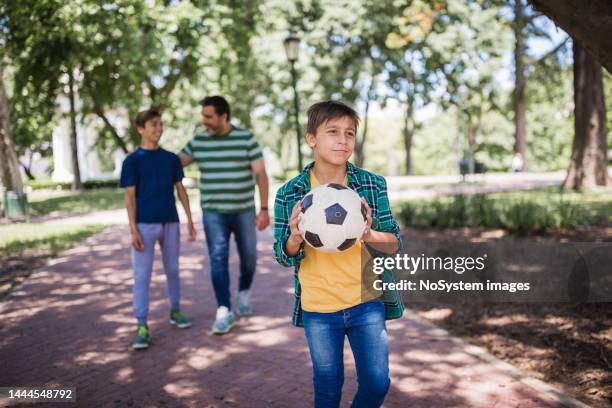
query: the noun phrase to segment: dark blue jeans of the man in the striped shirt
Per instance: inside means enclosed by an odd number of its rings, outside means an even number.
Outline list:
[[[255,210],[237,214],[204,211],[204,233],[210,256],[210,275],[217,304],[231,309],[230,277],[228,269],[229,239],[234,233],[240,256],[240,283],[238,290],[251,287],[257,265],[257,232]]]

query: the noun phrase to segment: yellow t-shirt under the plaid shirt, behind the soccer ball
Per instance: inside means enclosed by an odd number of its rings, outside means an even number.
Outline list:
[[[347,185],[345,176],[343,184]],[[312,188],[320,185],[312,170]],[[317,251],[304,243],[304,258],[298,278],[302,287],[302,309],[331,313],[362,303],[361,240],[343,252]]]

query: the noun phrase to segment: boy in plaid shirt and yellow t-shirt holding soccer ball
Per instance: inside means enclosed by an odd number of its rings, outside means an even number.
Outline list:
[[[308,110],[306,140],[314,162],[284,184],[274,205],[274,252],[283,266],[295,268],[292,322],[303,326],[313,365],[315,407],[338,407],[344,381],[344,337],[357,367],[353,407],[379,407],[389,389],[385,320],[399,318],[398,296],[370,299],[362,295],[361,246],[394,253],[401,247],[399,226],[389,208],[385,179],[358,168],[353,153],[359,117],[341,102],[320,102]],[[298,229],[300,202],[320,184],[337,183],[356,191],[366,208],[360,241],[337,253],[305,245]]]

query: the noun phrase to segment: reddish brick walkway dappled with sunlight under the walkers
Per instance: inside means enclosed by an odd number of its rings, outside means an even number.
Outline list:
[[[72,385],[82,407],[311,406],[305,338],[289,321],[292,272],[274,261],[270,231],[259,237],[253,288],[257,315],[222,337],[210,334],[215,301],[203,267],[202,229],[198,242],[183,243],[183,308],[194,322],[188,330],[167,322],[158,257],[150,306],[154,343],[139,352],[130,348],[134,322],[127,226],[91,237],[0,303],[0,386]],[[236,261],[233,256],[233,285]],[[388,328],[392,385],[385,407],[577,405],[409,314]],[[342,406],[355,392],[348,342],[345,354]]]

